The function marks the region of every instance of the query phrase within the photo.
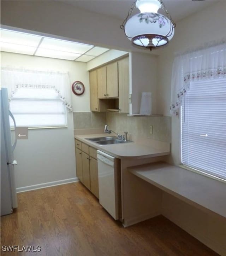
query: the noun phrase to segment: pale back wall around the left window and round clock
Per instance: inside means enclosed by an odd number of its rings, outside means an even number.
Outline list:
[[[69,71],[70,83],[81,80],[87,89],[84,97],[73,95],[73,109],[89,111],[85,63],[1,52],[1,66]],[[68,89],[71,91],[70,87]],[[15,169],[17,188],[76,177],[72,112],[67,112],[67,125],[67,128],[32,129],[28,140],[18,140],[14,151],[18,162]]]

